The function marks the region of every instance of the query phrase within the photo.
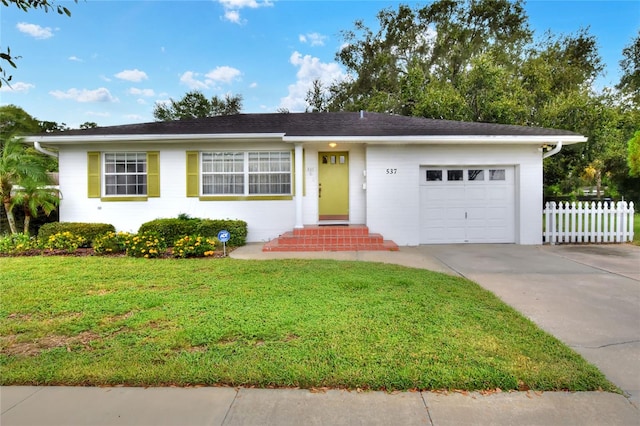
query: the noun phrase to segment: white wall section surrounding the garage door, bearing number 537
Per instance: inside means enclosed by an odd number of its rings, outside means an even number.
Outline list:
[[[368,146],[366,223],[399,245],[420,244],[421,165],[514,166],[515,242],[542,243],[542,154],[536,146]]]

